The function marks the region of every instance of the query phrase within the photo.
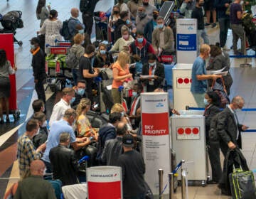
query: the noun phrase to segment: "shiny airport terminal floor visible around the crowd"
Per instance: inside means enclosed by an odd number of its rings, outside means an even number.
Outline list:
[[[79,1],[72,0],[55,0],[51,2],[52,9],[58,11],[58,17],[61,21],[69,18],[70,9],[78,7]],[[24,28],[17,29],[16,38],[23,41],[23,46],[19,47],[14,45],[16,53],[16,65],[18,71],[16,72],[16,90],[18,109],[21,109],[21,119],[11,124],[0,125],[0,198],[3,198],[5,190],[15,181],[18,181],[18,163],[16,161],[16,141],[18,136],[21,136],[24,129],[24,122],[32,114],[31,102],[36,99],[36,92],[33,85],[31,58],[29,53],[30,43],[29,39],[36,36],[36,31],[39,29],[39,21],[36,19],[36,4],[37,1],[33,0],[10,0],[0,1],[0,13],[5,14],[11,10],[21,10],[23,12]],[[112,0],[100,1],[97,5],[97,10],[106,11],[112,6]],[[210,36],[210,43],[218,41],[218,28],[207,28]],[[92,33],[92,36],[95,33]],[[1,41],[0,41],[1,42]],[[227,45],[232,45],[231,31],[228,33]],[[232,50],[227,51],[232,54]],[[254,53],[250,51],[249,53]],[[247,60],[252,64],[251,68],[240,68],[240,63],[244,63],[244,59],[232,58],[230,72],[233,75],[233,86],[231,87],[230,98],[235,95],[241,95],[245,98],[245,108],[256,108],[256,68],[255,58]],[[50,90],[46,91],[46,102],[48,114],[53,107],[55,95]],[[241,123],[246,124],[250,129],[256,129],[255,112],[240,112],[239,120]],[[256,132],[242,133],[242,153],[247,159],[250,169],[256,168]],[[195,150],[196,153],[196,150]],[[158,168],[156,168],[157,170]],[[189,171],[188,171],[189,172]],[[175,194],[176,198],[181,198],[181,188],[178,188]],[[206,187],[188,187],[188,198],[229,198],[220,195],[220,190],[217,185],[207,185]]]

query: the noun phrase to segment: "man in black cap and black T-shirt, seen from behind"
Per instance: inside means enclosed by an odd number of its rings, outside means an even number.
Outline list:
[[[123,197],[145,198],[144,173],[146,171],[142,154],[132,149],[134,137],[126,134],[122,137],[124,154],[119,156],[118,166],[122,168]]]

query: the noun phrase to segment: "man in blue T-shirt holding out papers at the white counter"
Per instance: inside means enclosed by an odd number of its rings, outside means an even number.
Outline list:
[[[196,58],[192,66],[192,82],[191,92],[198,105],[198,107],[205,107],[203,103],[205,93],[208,87],[207,80],[216,80],[221,75],[206,75],[206,59],[210,55],[210,46],[202,44],[200,48],[200,55]]]

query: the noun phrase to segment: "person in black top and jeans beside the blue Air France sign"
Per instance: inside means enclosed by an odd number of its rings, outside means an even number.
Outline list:
[[[200,37],[203,38],[203,43],[209,44],[209,38],[206,33],[203,16],[204,16],[203,0],[196,0],[196,7],[192,11],[191,18],[197,19],[198,30],[196,33],[196,41],[197,41],[198,54],[200,50]]]

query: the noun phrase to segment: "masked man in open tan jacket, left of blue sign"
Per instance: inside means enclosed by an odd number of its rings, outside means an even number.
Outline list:
[[[163,52],[174,52],[174,33],[171,28],[164,25],[164,18],[158,16],[156,18],[157,27],[152,33],[152,45],[158,55]]]

